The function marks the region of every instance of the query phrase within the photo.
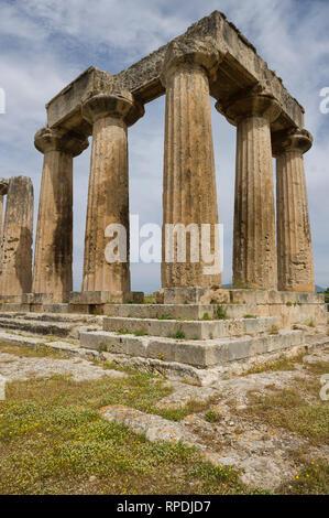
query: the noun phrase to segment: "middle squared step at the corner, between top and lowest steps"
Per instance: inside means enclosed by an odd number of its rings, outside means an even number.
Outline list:
[[[110,316],[103,319],[103,331],[117,333],[143,333],[150,336],[164,336],[188,339],[212,339],[223,336],[256,335],[278,325],[276,317],[177,321],[158,319],[128,319]]]

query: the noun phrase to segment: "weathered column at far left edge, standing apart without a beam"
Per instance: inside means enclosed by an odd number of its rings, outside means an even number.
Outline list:
[[[2,245],[1,294],[31,292],[33,185],[26,176],[9,182]]]

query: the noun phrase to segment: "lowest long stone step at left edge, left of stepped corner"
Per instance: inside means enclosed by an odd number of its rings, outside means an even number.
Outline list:
[[[78,337],[79,323],[67,323],[67,322],[42,322],[40,320],[32,319],[3,319],[0,317],[0,328],[2,330],[17,330],[29,332],[40,335],[54,335],[54,336],[72,336]]]

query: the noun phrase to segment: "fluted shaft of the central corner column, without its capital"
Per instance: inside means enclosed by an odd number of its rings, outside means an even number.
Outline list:
[[[186,241],[186,262],[165,262],[167,224],[196,224],[199,260],[190,259]],[[163,287],[220,285],[219,272],[205,274],[201,255],[201,224],[211,224],[210,250],[215,251],[218,224],[211,111],[207,71],[197,64],[178,64],[166,77],[165,153],[163,184]],[[219,253],[219,250],[217,250]],[[208,265],[209,266],[209,265]]]

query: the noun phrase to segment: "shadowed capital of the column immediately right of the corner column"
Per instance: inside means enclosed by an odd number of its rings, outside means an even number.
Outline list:
[[[277,100],[262,83],[230,97],[226,102],[216,102],[216,109],[233,126],[246,117],[264,117],[274,122],[282,109]]]

